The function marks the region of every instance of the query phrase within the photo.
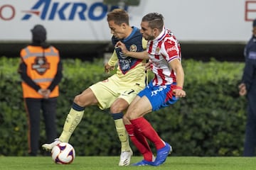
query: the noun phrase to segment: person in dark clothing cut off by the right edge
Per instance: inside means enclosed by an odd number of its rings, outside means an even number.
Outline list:
[[[245,69],[239,85],[240,96],[247,96],[245,157],[255,156],[256,148],[256,19],[252,23],[252,38],[245,46]]]

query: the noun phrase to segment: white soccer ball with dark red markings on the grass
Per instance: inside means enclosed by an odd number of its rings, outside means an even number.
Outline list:
[[[71,164],[75,159],[75,149],[66,142],[60,142],[53,147],[51,157],[56,164]]]

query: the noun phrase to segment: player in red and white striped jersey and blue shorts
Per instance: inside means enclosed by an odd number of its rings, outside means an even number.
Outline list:
[[[151,64],[146,64],[146,67],[151,67],[155,76],[134,98],[123,120],[132,142],[144,156],[141,162],[133,165],[159,166],[171,153],[171,145],[159,137],[143,116],[186,96],[181,47],[171,31],[164,27],[164,17],[160,13],[148,13],[142,18],[141,26],[141,33],[148,40],[145,52],[131,52],[122,42],[117,42],[116,47],[120,47],[124,55],[149,60]],[[156,147],[155,160],[146,139]]]

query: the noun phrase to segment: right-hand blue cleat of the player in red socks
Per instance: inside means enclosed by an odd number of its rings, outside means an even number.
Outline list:
[[[169,143],[166,143],[166,142],[165,142],[165,144],[166,145],[164,147],[157,150],[156,160],[154,161],[154,166],[159,166],[161,164],[164,164],[168,155],[171,154],[171,152],[172,152],[171,145],[169,145]]]

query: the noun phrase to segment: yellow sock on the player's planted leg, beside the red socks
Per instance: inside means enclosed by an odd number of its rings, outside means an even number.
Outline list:
[[[124,151],[132,150],[131,147],[129,146],[129,137],[128,137],[127,130],[124,127],[123,120],[122,119],[114,120],[114,124],[117,129],[117,135],[121,142],[121,151],[124,152]]]

